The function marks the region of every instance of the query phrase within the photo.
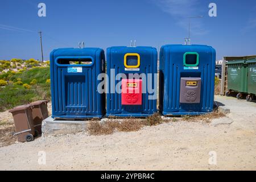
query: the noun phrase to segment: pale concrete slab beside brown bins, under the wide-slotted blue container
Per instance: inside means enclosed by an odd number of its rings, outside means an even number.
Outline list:
[[[42,122],[42,135],[75,134],[85,131],[89,121],[60,120],[48,117]]]

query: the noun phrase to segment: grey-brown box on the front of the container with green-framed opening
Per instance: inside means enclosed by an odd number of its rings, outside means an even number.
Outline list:
[[[181,77],[180,80],[180,103],[200,103],[201,78]]]

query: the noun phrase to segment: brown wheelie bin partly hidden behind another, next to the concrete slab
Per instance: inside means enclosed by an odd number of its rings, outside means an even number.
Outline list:
[[[35,136],[42,134],[42,121],[48,118],[48,101],[36,101],[30,103],[33,106],[32,108],[32,118],[35,127]]]

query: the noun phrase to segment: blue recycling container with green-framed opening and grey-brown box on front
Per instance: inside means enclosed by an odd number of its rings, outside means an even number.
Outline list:
[[[213,111],[216,52],[203,45],[160,49],[159,110],[163,115]]]

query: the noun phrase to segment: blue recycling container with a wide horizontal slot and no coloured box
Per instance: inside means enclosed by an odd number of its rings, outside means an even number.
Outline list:
[[[50,55],[52,117],[101,118],[105,93],[98,93],[97,80],[105,73],[105,54],[100,48],[61,48]]]

